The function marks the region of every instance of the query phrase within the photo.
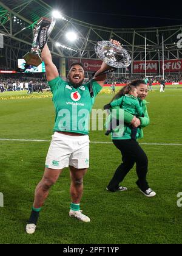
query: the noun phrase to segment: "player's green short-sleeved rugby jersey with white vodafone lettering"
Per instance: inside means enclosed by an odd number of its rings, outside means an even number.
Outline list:
[[[93,98],[89,82],[74,88],[69,82],[56,77],[48,82],[56,110],[54,131],[89,134],[89,118],[95,97],[102,87],[93,82]]]

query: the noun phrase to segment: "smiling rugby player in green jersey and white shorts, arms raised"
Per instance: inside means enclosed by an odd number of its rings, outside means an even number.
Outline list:
[[[120,42],[112,40],[116,45]],[[79,209],[83,195],[83,177],[89,168],[89,113],[96,95],[101,91],[106,74],[98,76],[110,68],[103,62],[96,72],[92,89],[90,82],[84,84],[84,69],[81,63],[73,63],[69,69],[69,82],[59,77],[58,69],[52,62],[47,44],[42,50],[47,81],[53,94],[56,110],[54,134],[45,161],[45,172],[35,190],[35,201],[32,213],[26,226],[26,232],[32,234],[36,230],[39,212],[49,194],[50,188],[58,180],[62,170],[70,169],[70,204],[69,216],[80,221],[90,222],[90,218]]]

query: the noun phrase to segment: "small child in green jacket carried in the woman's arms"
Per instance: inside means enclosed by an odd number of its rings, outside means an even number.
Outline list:
[[[129,112],[136,117],[144,117],[143,108],[140,106],[137,98],[138,94],[136,88],[132,85],[127,85],[124,91],[125,94],[120,99],[116,99],[115,101],[105,105],[104,109],[106,110],[112,107],[120,106],[124,111]],[[114,127],[112,127],[112,129],[114,129]],[[109,133],[112,132],[112,129],[107,130],[106,135],[109,135]],[[132,139],[136,140],[138,128],[130,126],[130,129],[132,130]]]

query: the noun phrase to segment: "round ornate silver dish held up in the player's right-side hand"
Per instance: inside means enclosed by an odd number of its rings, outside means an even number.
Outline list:
[[[114,68],[127,68],[132,63],[129,53],[122,46],[116,46],[110,41],[99,41],[95,46],[99,59]]]

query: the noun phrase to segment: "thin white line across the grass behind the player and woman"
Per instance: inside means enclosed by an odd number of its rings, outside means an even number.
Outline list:
[[[25,139],[8,139],[0,138],[0,141],[30,141],[30,142],[50,142],[50,140],[25,140]],[[90,141],[93,144],[113,144],[109,141]],[[140,145],[149,145],[149,146],[182,146],[181,143],[140,143]]]

